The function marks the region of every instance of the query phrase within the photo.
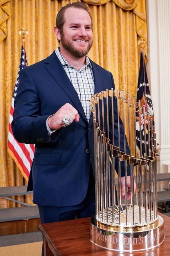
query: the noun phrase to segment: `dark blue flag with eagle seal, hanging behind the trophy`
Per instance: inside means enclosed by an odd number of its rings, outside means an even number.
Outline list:
[[[138,87],[137,87],[137,102],[140,100],[141,108],[145,106],[145,113],[140,114],[136,112],[136,145],[137,152],[142,151],[142,156],[144,153],[149,155],[149,141],[148,141],[148,118],[147,113],[149,113],[149,121],[152,119],[154,126],[154,114],[153,114],[153,105],[151,100],[151,94],[149,90],[149,83],[147,77],[147,71],[145,66],[145,54],[141,51],[140,54],[140,69],[139,69],[139,78],[138,78]],[[144,117],[145,115],[145,117]],[[140,145],[140,127],[139,120],[141,122],[141,145]],[[145,131],[146,131],[146,148],[145,148]],[[151,142],[150,142],[151,143]],[[152,146],[152,145],[150,145]],[[141,147],[141,148],[140,148]],[[141,149],[141,150],[140,150]]]

